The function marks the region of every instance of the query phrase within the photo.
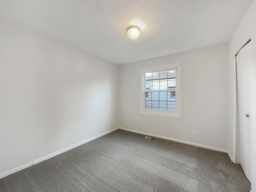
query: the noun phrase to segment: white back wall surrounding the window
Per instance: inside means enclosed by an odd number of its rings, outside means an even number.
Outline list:
[[[119,126],[226,149],[227,50],[220,45],[121,66]],[[182,119],[141,115],[140,68],[174,62],[182,62]]]

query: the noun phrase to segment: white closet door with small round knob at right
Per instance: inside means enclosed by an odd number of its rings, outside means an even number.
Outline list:
[[[236,56],[241,166],[251,181],[251,44]]]

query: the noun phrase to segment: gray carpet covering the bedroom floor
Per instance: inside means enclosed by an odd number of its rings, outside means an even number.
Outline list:
[[[228,155],[116,130],[0,180],[1,192],[249,192]]]

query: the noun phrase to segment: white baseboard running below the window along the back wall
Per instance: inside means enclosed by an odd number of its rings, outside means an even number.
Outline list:
[[[232,156],[230,155],[229,151],[226,150],[226,149],[207,146],[207,145],[202,145],[202,144],[188,142],[188,141],[183,141],[183,140],[174,139],[174,138],[170,138],[170,137],[164,137],[164,136],[155,135],[155,134],[146,133],[146,132],[141,132],[141,131],[136,131],[136,130],[132,130],[132,129],[126,129],[126,128],[122,128],[122,127],[118,127],[118,129],[130,131],[130,132],[134,132],[134,133],[139,133],[139,134],[143,134],[143,135],[148,135],[148,136],[152,136],[152,137],[157,137],[157,138],[161,138],[161,139],[166,139],[166,140],[170,140],[170,141],[175,141],[175,142],[179,142],[179,143],[184,143],[184,144],[188,144],[188,145],[193,145],[193,146],[197,146],[197,147],[202,147],[202,148],[206,148],[206,149],[211,149],[211,150],[214,150],[214,151],[225,152],[225,153],[228,154],[230,160],[233,162]]]

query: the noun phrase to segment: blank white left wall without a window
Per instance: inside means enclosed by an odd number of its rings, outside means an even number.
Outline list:
[[[116,128],[117,70],[0,20],[0,174]]]

